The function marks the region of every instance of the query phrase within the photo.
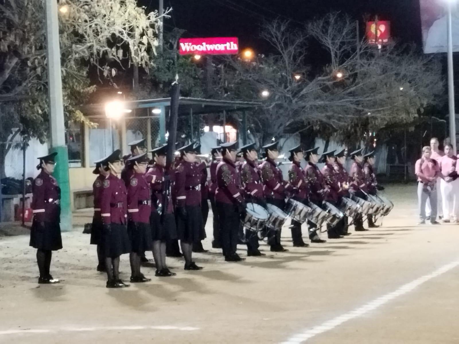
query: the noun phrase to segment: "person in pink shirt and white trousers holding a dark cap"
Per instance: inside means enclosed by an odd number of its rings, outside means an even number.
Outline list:
[[[458,212],[458,189],[459,180],[456,172],[456,156],[453,155],[453,147],[451,144],[445,144],[445,155],[439,159],[440,172],[440,190],[443,205],[442,222],[456,222]]]

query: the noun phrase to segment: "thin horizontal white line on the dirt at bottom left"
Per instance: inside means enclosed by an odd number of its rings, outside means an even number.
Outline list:
[[[199,327],[177,327],[177,326],[62,327],[62,328],[57,328],[57,329],[6,330],[6,331],[0,331],[0,335],[24,334],[24,333],[96,332],[96,331],[132,331],[132,330],[197,331],[199,330]]]

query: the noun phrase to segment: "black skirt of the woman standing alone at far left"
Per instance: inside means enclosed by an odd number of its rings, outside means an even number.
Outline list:
[[[30,230],[29,245],[37,250],[56,251],[62,249],[59,222],[38,222],[34,219]]]

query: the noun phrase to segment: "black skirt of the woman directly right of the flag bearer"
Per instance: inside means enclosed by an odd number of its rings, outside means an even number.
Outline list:
[[[185,243],[195,243],[205,239],[202,230],[202,212],[199,205],[186,205],[186,219],[183,216],[176,214],[177,234],[179,240]]]

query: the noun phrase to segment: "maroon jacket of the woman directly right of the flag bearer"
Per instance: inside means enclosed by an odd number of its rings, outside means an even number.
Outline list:
[[[180,161],[175,171],[176,206],[201,205],[201,168],[194,162]]]

